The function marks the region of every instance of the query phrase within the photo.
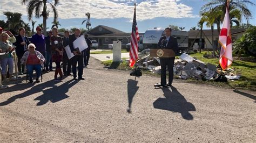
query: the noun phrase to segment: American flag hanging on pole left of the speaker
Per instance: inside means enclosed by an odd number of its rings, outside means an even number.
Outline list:
[[[138,41],[139,41],[139,31],[136,22],[136,5],[134,4],[134,15],[132,23],[132,35],[131,35],[131,48],[130,48],[130,67],[133,67],[136,60],[138,59]]]

